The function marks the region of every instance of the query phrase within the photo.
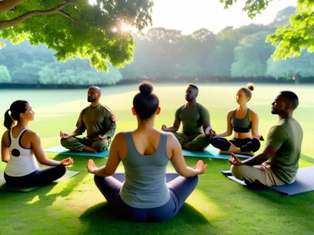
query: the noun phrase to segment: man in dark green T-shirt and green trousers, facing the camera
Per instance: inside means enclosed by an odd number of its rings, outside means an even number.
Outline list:
[[[168,128],[162,125],[161,129],[174,133],[182,149],[204,151],[215,132],[210,127],[209,112],[196,102],[197,96],[198,87],[189,84],[185,92],[187,103],[176,110],[174,123]],[[181,122],[182,132],[178,133]]]

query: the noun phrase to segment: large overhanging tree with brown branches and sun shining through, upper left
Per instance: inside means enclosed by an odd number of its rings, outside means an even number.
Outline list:
[[[98,70],[133,59],[135,42],[125,27],[152,24],[150,0],[2,0],[0,38],[18,44],[46,44],[58,61],[88,58]],[[115,30],[116,29],[116,30]]]

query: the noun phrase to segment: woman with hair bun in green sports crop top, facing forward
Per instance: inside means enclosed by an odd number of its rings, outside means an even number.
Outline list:
[[[219,154],[244,154],[254,156],[263,140],[258,135],[258,115],[246,106],[251,100],[254,84],[248,83],[246,87],[241,87],[236,94],[236,102],[239,106],[230,110],[227,114],[227,130],[224,133],[216,134],[210,143],[221,151]],[[234,137],[229,141],[226,138],[235,132]]]

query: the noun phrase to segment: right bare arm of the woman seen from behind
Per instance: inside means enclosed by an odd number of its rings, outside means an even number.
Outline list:
[[[167,145],[168,144],[172,152],[170,160],[178,174],[184,177],[193,177],[200,174],[199,170],[193,169],[186,165],[184,157],[182,155],[181,145],[172,133],[167,136]]]

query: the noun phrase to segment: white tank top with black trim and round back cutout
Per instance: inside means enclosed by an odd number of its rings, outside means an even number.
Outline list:
[[[21,146],[21,138],[27,129],[23,129],[17,138],[9,130],[9,154],[10,159],[4,170],[5,174],[12,177],[28,175],[39,168],[32,149],[24,149]]]

